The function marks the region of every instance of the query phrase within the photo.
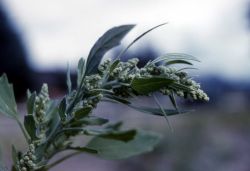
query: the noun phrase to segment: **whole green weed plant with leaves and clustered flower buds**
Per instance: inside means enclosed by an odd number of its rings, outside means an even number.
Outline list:
[[[159,25],[161,26],[161,25]],[[67,94],[60,100],[51,99],[48,85],[40,92],[27,91],[27,113],[22,122],[19,118],[13,87],[6,75],[0,77],[0,113],[14,119],[27,141],[26,151],[12,146],[13,171],[46,171],[79,153],[90,153],[105,159],[124,159],[151,151],[159,142],[156,133],[137,129],[123,130],[122,122],[110,122],[92,111],[101,101],[122,103],[143,113],[163,116],[184,113],[177,108],[175,96],[208,101],[200,85],[192,80],[185,68],[176,69],[174,64],[192,65],[196,58],[169,53],[148,61],[139,68],[139,59],[126,62],[120,57],[149,31],[137,37],[113,60],[103,60],[104,54],[120,44],[134,25],[122,25],[108,30],[94,44],[86,61],[79,60],[76,87],[72,88],[70,70],[67,71]],[[176,65],[175,65],[176,66]],[[183,65],[182,65],[183,66]],[[165,109],[155,93],[169,96],[173,109]],[[157,108],[136,106],[131,99],[151,96]],[[74,145],[76,136],[91,137],[81,146]],[[51,162],[58,153],[72,153]],[[0,170],[5,170],[0,164]],[[6,169],[7,170],[7,169]]]

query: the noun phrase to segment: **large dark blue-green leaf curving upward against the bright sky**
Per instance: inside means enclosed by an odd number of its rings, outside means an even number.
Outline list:
[[[98,71],[98,65],[105,53],[115,46],[120,45],[121,40],[134,26],[135,25],[122,25],[114,27],[104,33],[94,44],[88,55],[86,74],[95,74]]]

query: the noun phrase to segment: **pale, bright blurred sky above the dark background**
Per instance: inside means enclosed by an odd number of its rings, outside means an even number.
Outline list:
[[[250,27],[247,0],[1,0],[38,70],[75,66],[107,29],[138,26],[126,45],[148,28],[143,38],[159,53],[182,52],[198,57],[201,74],[250,79]]]

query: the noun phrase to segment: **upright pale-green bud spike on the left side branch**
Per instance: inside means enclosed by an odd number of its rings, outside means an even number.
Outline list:
[[[35,118],[38,123],[44,123],[46,118],[46,108],[49,102],[48,85],[43,84],[41,91],[35,99]]]

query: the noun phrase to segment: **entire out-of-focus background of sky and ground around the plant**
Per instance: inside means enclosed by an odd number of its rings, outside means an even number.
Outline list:
[[[69,62],[74,74],[80,57],[109,28],[137,24],[122,42],[168,22],[135,44],[124,58],[144,60],[168,52],[199,58],[198,71],[210,101],[179,100],[196,109],[170,117],[171,133],[162,118],[144,116],[122,105],[102,103],[95,111],[126,127],[161,132],[163,141],[149,154],[123,161],[79,155],[52,171],[249,171],[250,170],[250,2],[248,0],[0,0],[0,75],[7,73],[24,111],[26,89],[49,84],[52,97],[65,90]],[[121,48],[108,53],[114,56]],[[168,104],[167,99],[162,99]],[[151,99],[138,103],[151,104]],[[119,112],[119,114],[117,114]],[[8,131],[7,131],[8,130]],[[24,148],[12,120],[0,116],[0,145],[11,165],[10,145]]]

